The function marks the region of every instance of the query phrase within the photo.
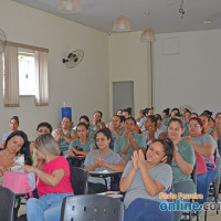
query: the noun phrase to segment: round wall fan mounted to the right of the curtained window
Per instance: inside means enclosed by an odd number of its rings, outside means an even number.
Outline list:
[[[81,49],[77,49],[76,51],[70,53],[67,55],[67,59],[63,59],[63,63],[65,63],[67,69],[75,67],[84,57],[84,51]]]

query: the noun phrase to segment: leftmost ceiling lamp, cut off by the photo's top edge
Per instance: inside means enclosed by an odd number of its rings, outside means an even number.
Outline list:
[[[57,11],[61,13],[78,13],[82,11],[80,0],[60,0]]]

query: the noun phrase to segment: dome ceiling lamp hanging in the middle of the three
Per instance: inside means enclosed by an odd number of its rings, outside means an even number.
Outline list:
[[[123,0],[122,0],[123,1]],[[122,8],[123,8],[123,2],[120,1],[120,13],[122,13]],[[123,15],[118,17],[113,25],[113,31],[114,32],[127,32],[131,31],[131,24],[129,20]]]

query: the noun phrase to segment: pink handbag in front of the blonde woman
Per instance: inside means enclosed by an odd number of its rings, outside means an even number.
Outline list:
[[[18,167],[17,167],[18,169]],[[34,172],[24,172],[24,170],[6,171],[3,175],[2,187],[9,188],[15,194],[28,194],[33,197],[35,189],[35,175]]]

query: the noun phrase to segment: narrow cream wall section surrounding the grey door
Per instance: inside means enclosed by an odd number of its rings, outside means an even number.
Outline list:
[[[113,115],[113,82],[134,81],[135,115],[150,105],[149,44],[140,42],[141,32],[109,36],[109,113]],[[122,107],[126,108],[126,107]],[[115,114],[115,113],[114,113]]]

